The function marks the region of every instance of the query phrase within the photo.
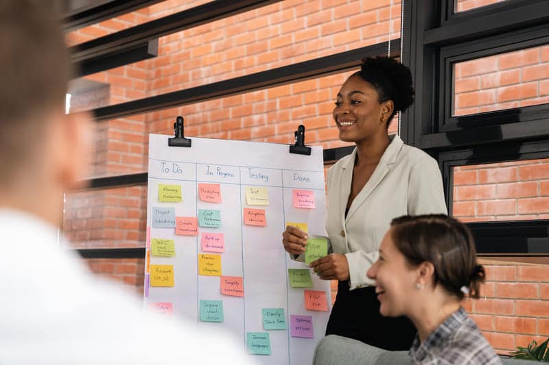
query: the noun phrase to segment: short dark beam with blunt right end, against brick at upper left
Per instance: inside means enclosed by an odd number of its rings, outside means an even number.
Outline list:
[[[159,41],[149,40],[133,49],[124,49],[100,57],[92,57],[74,64],[75,77],[82,77],[126,64],[148,60],[159,53]]]

